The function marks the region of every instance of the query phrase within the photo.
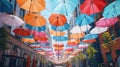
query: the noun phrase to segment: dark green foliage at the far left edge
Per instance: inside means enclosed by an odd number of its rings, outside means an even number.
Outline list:
[[[5,50],[7,49],[7,39],[8,39],[8,34],[5,31],[4,27],[0,28],[0,50]]]

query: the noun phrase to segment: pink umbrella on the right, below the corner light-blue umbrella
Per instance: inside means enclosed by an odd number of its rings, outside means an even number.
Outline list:
[[[100,20],[98,20],[96,22],[96,26],[98,27],[109,27],[114,25],[115,23],[117,23],[118,18],[114,17],[114,18],[101,18]]]

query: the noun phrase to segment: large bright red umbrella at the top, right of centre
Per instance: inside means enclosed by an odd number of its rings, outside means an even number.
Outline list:
[[[98,12],[101,12],[104,7],[107,5],[105,0],[85,0],[81,5],[80,5],[80,10],[81,13],[83,14],[95,14]]]

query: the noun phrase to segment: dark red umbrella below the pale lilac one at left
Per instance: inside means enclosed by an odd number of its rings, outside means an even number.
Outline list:
[[[13,32],[16,35],[20,35],[20,36],[29,36],[30,35],[30,31],[27,29],[23,29],[23,28],[16,28],[13,30]]]

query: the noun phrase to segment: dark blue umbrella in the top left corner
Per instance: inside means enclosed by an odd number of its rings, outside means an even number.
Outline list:
[[[0,0],[0,12],[12,13],[13,5],[7,0]]]

